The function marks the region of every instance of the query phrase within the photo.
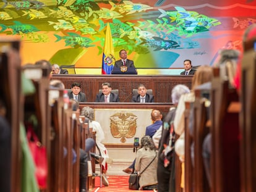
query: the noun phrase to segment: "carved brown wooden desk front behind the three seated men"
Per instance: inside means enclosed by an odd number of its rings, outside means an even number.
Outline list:
[[[113,89],[119,90],[121,102],[130,102],[132,89],[143,84],[153,90],[155,102],[171,102],[171,90],[178,84],[191,88],[193,75],[53,75],[52,80],[61,80],[66,88],[79,82],[88,102],[94,102],[96,94],[104,82],[111,83]]]

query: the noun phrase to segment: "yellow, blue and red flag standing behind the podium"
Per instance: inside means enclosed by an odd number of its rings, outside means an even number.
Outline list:
[[[112,42],[112,35],[109,23],[106,29],[106,37],[104,43],[103,57],[102,57],[102,69],[101,74],[111,74],[111,70],[114,67],[114,46]]]

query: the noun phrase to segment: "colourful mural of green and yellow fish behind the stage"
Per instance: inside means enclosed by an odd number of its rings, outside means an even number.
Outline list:
[[[41,0],[0,2],[0,36],[19,36],[22,62],[99,68],[109,23],[116,59],[126,49],[137,68],[213,65],[222,48],[241,49],[256,23],[256,1]]]

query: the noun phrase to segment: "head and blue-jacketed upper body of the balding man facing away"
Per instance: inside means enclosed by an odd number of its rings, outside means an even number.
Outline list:
[[[145,135],[148,135],[152,138],[152,136],[155,135],[156,131],[161,127],[161,125],[163,125],[162,118],[163,115],[161,112],[153,109],[151,112],[151,119],[153,120],[153,124],[146,128]]]

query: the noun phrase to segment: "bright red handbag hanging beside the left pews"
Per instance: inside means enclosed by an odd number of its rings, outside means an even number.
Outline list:
[[[47,187],[48,162],[45,146],[42,146],[32,127],[27,128],[27,139],[35,164],[35,177],[40,190]]]

